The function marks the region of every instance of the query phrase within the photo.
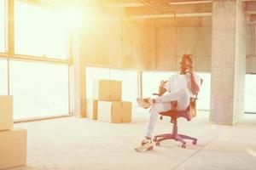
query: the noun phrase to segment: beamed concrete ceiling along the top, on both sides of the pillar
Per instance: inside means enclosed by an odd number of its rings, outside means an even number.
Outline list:
[[[31,0],[53,6],[94,3],[105,8],[124,8],[131,18],[211,16],[212,0]],[[250,21],[256,20],[256,0],[242,0]]]

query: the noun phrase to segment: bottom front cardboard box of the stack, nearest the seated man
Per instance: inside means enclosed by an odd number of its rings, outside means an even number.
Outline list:
[[[98,120],[103,122],[131,122],[131,102],[98,101]]]

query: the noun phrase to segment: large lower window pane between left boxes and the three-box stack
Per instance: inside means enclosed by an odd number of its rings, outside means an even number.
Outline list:
[[[68,114],[68,67],[10,61],[14,117]]]

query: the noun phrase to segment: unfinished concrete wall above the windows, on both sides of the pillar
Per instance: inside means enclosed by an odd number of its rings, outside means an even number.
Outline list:
[[[179,56],[195,55],[195,71],[211,71],[212,17],[129,20],[103,11],[84,20],[80,54],[87,65],[175,71]],[[122,14],[123,13],[123,14]],[[256,25],[247,25],[247,73],[256,73]]]

